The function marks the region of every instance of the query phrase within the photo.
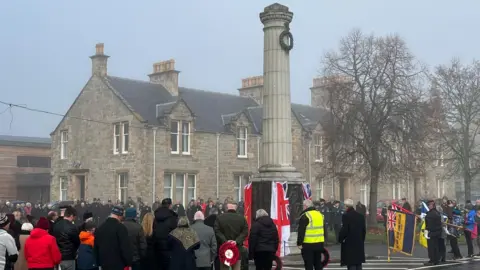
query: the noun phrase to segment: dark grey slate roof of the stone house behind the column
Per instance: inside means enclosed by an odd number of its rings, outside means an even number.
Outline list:
[[[160,114],[168,112],[175,101],[182,99],[195,115],[197,131],[225,132],[225,124],[238,113],[245,111],[257,133],[262,132],[262,107],[249,97],[179,87],[178,97],[172,96],[160,84],[108,76],[111,87],[128,106],[147,123],[158,125],[157,105]],[[292,110],[302,126],[314,128],[326,116],[322,109],[308,105],[292,104]]]

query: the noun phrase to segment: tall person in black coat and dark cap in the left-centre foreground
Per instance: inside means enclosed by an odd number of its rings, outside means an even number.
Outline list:
[[[154,238],[157,269],[169,269],[168,235],[177,228],[177,224],[178,215],[172,210],[172,199],[163,199],[162,205],[155,210]]]

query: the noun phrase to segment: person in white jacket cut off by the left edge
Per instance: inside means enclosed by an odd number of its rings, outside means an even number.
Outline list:
[[[0,213],[0,269],[7,269],[18,259],[18,249],[15,239],[8,233],[10,219],[5,213]]]

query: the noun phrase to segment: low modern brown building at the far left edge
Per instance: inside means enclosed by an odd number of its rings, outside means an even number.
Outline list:
[[[0,135],[0,199],[50,201],[49,138]]]

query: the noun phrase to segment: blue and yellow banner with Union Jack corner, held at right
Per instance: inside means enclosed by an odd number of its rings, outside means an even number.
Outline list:
[[[415,244],[416,217],[399,211],[395,206],[388,210],[388,248],[412,256]],[[390,252],[389,252],[390,253]]]

